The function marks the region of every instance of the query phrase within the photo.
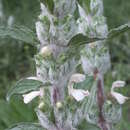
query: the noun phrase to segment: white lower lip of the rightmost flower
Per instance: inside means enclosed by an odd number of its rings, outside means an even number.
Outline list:
[[[112,96],[117,100],[117,102],[118,102],[119,104],[123,104],[123,103],[125,103],[125,101],[126,101],[127,99],[129,99],[128,97],[125,97],[125,96],[123,96],[122,94],[117,93],[117,92],[112,92],[111,94],[112,94]]]

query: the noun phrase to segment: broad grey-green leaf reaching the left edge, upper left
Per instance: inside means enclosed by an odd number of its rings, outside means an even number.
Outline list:
[[[13,27],[3,27],[0,26],[0,37],[11,37],[16,40],[20,40],[32,45],[36,44],[37,37],[35,33],[25,27],[25,26],[13,26]]]

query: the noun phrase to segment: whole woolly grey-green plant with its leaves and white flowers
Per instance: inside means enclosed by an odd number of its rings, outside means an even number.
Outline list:
[[[129,98],[114,91],[124,87],[124,81],[113,82],[108,92],[115,101],[105,96],[103,78],[111,66],[106,41],[129,28],[125,24],[108,31],[102,0],[44,1],[36,34],[25,27],[3,28],[5,36],[38,50],[36,76],[18,81],[7,100],[20,94],[28,104],[39,97],[39,123],[21,123],[10,130],[114,129]]]

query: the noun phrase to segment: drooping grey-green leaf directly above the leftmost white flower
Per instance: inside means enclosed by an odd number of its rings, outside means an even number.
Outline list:
[[[7,100],[14,94],[24,94],[30,91],[35,91],[44,84],[38,80],[23,79],[16,83],[16,85],[9,90],[7,93]]]

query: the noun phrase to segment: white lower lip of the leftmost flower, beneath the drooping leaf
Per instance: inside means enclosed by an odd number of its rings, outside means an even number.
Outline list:
[[[33,91],[33,92],[28,93],[28,94],[24,94],[23,95],[24,103],[28,104],[37,96],[40,96],[40,91]]]

